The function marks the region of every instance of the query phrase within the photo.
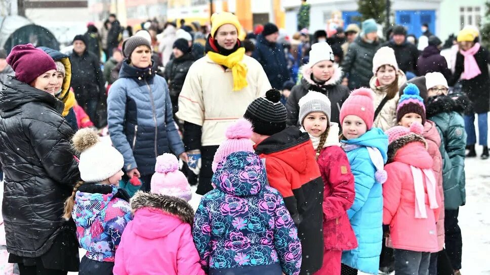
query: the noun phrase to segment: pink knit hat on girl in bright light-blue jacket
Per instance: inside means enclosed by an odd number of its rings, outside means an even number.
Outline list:
[[[340,109],[340,123],[344,122],[346,116],[355,115],[360,117],[370,130],[374,122],[373,100],[374,93],[370,88],[353,90]]]

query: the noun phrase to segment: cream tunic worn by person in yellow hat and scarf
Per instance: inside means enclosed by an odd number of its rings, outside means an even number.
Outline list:
[[[220,145],[226,128],[243,117],[249,104],[271,88],[257,60],[243,56],[248,86],[233,91],[231,69],[226,70],[207,55],[189,68],[179,96],[177,117],[202,126],[202,146]]]

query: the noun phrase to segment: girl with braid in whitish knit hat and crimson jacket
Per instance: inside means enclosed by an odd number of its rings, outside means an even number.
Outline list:
[[[323,265],[317,275],[340,275],[342,250],[357,247],[347,217],[355,198],[354,176],[349,160],[340,148],[339,126],[330,122],[330,100],[310,91],[299,101],[301,131],[310,135],[323,179]]]

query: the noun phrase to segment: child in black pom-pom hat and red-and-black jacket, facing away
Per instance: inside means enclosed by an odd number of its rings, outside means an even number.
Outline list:
[[[286,128],[287,111],[279,99],[278,90],[268,90],[249,105],[244,118],[254,127],[255,153],[265,163],[269,184],[281,193],[298,227],[301,274],[313,274],[323,262],[323,180],[308,133]]]

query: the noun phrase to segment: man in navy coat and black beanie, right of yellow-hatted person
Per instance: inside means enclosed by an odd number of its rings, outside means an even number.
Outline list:
[[[281,89],[282,84],[291,77],[282,45],[277,43],[279,29],[272,23],[264,25],[257,36],[257,45],[252,57],[264,68],[273,88]]]

